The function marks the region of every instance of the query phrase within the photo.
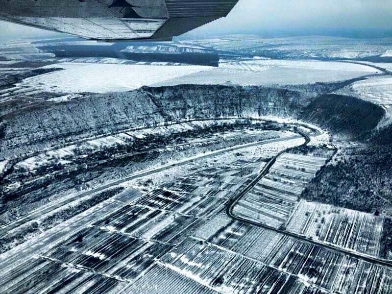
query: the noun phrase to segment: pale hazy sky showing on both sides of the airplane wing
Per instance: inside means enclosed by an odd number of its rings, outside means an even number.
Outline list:
[[[387,29],[392,31],[392,0],[240,0],[225,19],[196,30],[260,32],[314,28]],[[0,38],[53,33],[0,23]]]

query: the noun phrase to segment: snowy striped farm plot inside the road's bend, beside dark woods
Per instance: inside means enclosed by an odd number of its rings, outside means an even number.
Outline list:
[[[271,227],[282,226],[294,211],[303,189],[327,158],[283,153],[263,177],[233,208],[246,220]]]

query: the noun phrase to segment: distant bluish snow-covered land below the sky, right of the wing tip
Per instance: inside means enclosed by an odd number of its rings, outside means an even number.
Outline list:
[[[330,36],[295,36],[264,39],[256,35],[229,35],[185,42],[218,50],[246,51],[249,54],[264,57],[281,56],[286,59],[355,59],[378,55],[381,57],[391,56],[391,38],[354,39]]]

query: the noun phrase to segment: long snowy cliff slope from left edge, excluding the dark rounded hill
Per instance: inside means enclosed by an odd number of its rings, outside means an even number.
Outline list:
[[[98,135],[185,119],[292,117],[299,92],[262,87],[176,86],[45,102],[2,117],[3,157]]]

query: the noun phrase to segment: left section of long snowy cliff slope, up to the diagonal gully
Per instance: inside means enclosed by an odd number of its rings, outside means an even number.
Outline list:
[[[88,95],[67,102],[45,102],[2,117],[2,155],[18,156],[89,137],[163,122],[144,93]]]

